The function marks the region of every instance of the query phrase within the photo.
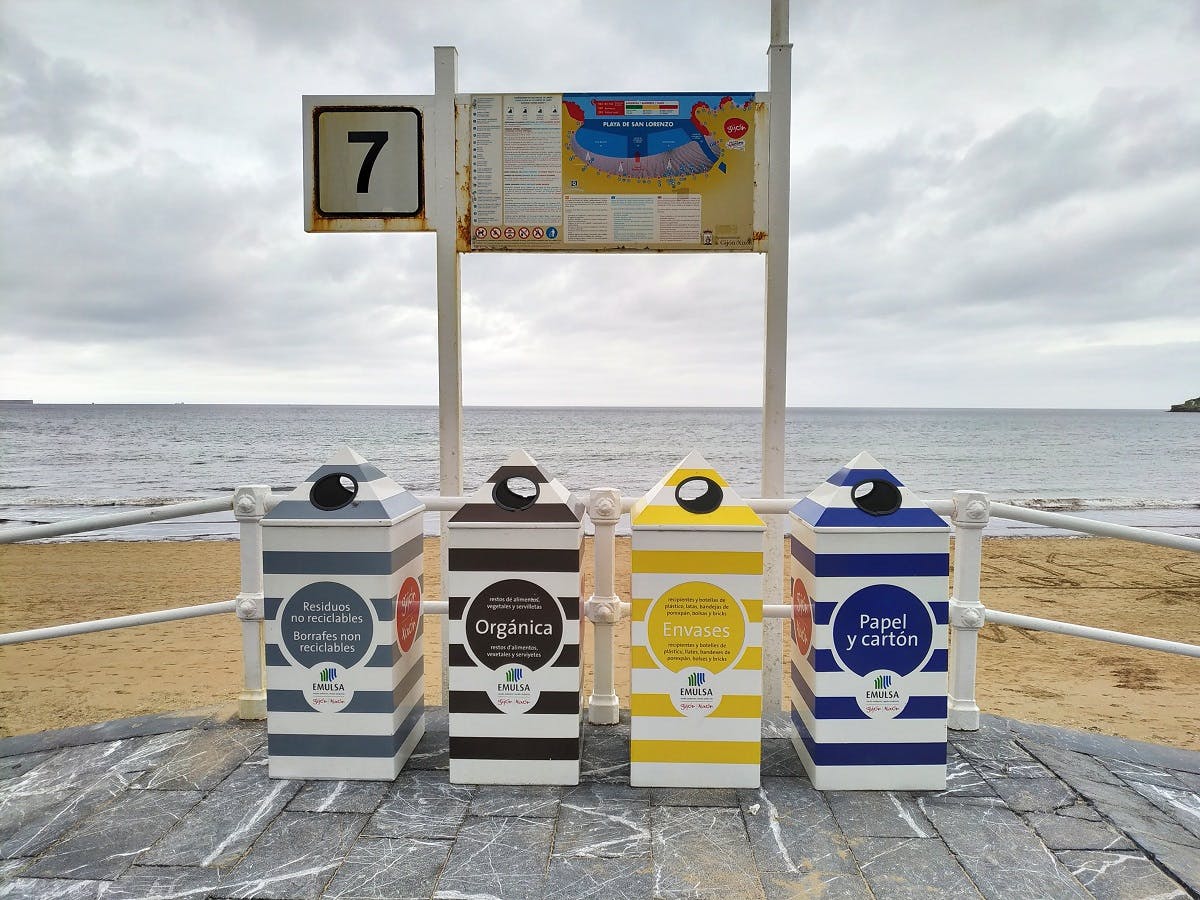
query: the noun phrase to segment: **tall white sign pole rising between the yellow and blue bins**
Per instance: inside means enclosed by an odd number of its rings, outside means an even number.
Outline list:
[[[792,166],[792,44],[788,43],[788,0],[772,0],[768,83],[770,92],[770,157],[767,175],[767,298],[763,314],[762,496],[784,496],[784,434],[787,413],[787,254]],[[784,522],[767,517],[763,547],[764,602],[778,601],[784,583]],[[764,710],[782,707],[781,619],[763,623],[762,702]]]

